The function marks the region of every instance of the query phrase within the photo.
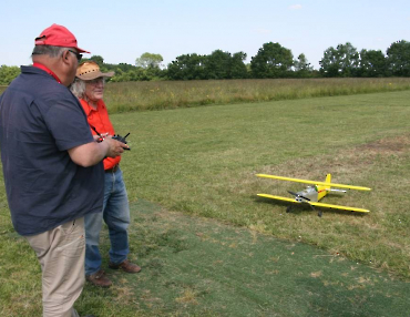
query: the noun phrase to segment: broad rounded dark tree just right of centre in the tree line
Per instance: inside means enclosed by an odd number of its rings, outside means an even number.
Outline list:
[[[285,78],[294,64],[291,51],[279,43],[265,43],[252,58],[250,69],[254,78]]]

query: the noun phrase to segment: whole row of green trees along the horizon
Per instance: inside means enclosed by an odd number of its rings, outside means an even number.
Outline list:
[[[279,79],[279,78],[381,78],[410,76],[410,42],[393,42],[381,50],[361,50],[349,42],[330,47],[315,70],[305,54],[294,58],[291,50],[279,43],[263,44],[250,63],[245,63],[244,52],[229,53],[215,50],[211,54],[183,54],[164,68],[161,54],[143,53],[135,64],[104,63],[93,55],[102,71],[115,71],[113,82],[151,80],[224,80],[224,79]],[[0,84],[9,84],[18,74],[18,67],[0,67]]]

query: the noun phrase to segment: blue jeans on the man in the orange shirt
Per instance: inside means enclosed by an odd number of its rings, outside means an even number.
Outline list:
[[[102,221],[109,227],[111,248],[110,260],[120,264],[130,253],[127,227],[130,206],[125,184],[120,168],[115,173],[105,173],[104,205],[102,213],[86,215],[85,221],[85,275],[101,269],[99,249]]]

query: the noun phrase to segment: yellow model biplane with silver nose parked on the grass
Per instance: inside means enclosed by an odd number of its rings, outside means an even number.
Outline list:
[[[326,207],[326,208],[332,208],[332,209],[351,211],[351,212],[358,212],[358,213],[369,213],[370,212],[370,211],[363,209],[363,208],[356,208],[356,207],[348,207],[348,206],[319,203],[319,201],[322,197],[325,197],[329,192],[346,193],[346,191],[344,191],[344,190],[336,190],[336,188],[331,188],[331,187],[357,190],[357,191],[371,191],[371,188],[368,188],[368,187],[351,186],[351,185],[344,185],[344,184],[334,184],[334,183],[331,183],[331,175],[330,174],[326,175],[326,181],[325,182],[306,181],[306,180],[299,180],[299,178],[290,178],[290,177],[267,175],[267,174],[256,174],[256,176],[314,185],[314,186],[307,186],[304,191],[300,191],[300,192],[297,192],[297,193],[288,192],[290,195],[294,196],[294,198],[287,198],[287,197],[268,195],[268,194],[257,194],[260,197],[266,197],[266,198],[271,198],[271,200],[277,200],[277,201],[285,201],[285,202],[296,203],[296,204],[307,204],[307,205],[310,205],[310,207],[314,211],[315,211],[314,206],[317,206],[317,207]],[[289,213],[290,211],[291,211],[291,206],[288,206],[286,208],[286,212]],[[322,212],[319,211],[318,216],[321,217],[321,215],[322,215]]]

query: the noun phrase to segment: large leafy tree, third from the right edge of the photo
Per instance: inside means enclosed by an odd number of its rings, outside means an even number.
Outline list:
[[[319,61],[320,73],[325,76],[352,76],[359,64],[359,53],[351,43],[330,47]]]

